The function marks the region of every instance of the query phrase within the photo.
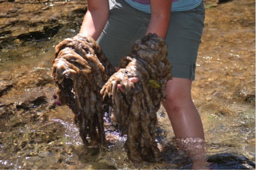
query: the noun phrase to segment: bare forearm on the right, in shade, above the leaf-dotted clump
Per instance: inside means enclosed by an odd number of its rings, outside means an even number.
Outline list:
[[[165,38],[171,15],[172,0],[150,0],[151,19],[147,28],[148,33],[156,33]]]

